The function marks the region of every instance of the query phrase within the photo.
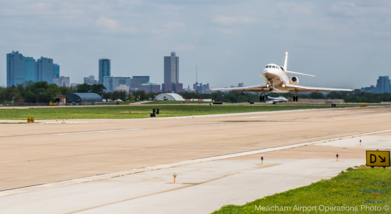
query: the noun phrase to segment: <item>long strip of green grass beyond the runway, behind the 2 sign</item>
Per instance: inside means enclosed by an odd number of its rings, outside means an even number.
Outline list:
[[[330,108],[329,104],[277,104],[277,105],[119,105],[110,107],[30,107],[27,109],[0,108],[0,119],[123,119],[150,117],[152,108],[159,108],[157,117],[174,117],[205,114],[241,113],[253,111],[279,111],[308,108]],[[337,107],[359,107],[359,104],[338,104]]]

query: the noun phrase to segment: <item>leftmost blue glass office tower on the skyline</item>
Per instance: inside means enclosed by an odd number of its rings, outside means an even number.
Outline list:
[[[7,86],[24,82],[24,56],[19,51],[7,54]]]

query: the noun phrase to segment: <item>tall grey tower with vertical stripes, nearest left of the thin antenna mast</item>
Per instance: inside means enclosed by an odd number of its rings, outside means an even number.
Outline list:
[[[171,52],[169,57],[164,57],[164,83],[179,83],[179,57],[175,52]]]

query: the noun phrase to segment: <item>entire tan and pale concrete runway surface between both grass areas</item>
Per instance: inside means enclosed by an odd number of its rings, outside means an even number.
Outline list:
[[[43,122],[0,124],[0,213],[210,213],[391,149],[391,107]]]

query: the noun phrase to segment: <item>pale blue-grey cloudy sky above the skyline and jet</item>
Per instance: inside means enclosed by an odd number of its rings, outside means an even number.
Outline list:
[[[6,54],[60,64],[71,83],[98,76],[163,82],[163,56],[179,56],[180,82],[263,83],[265,64],[316,75],[300,85],[360,88],[391,76],[391,1],[0,0],[0,86]],[[289,77],[291,75],[288,75]]]

